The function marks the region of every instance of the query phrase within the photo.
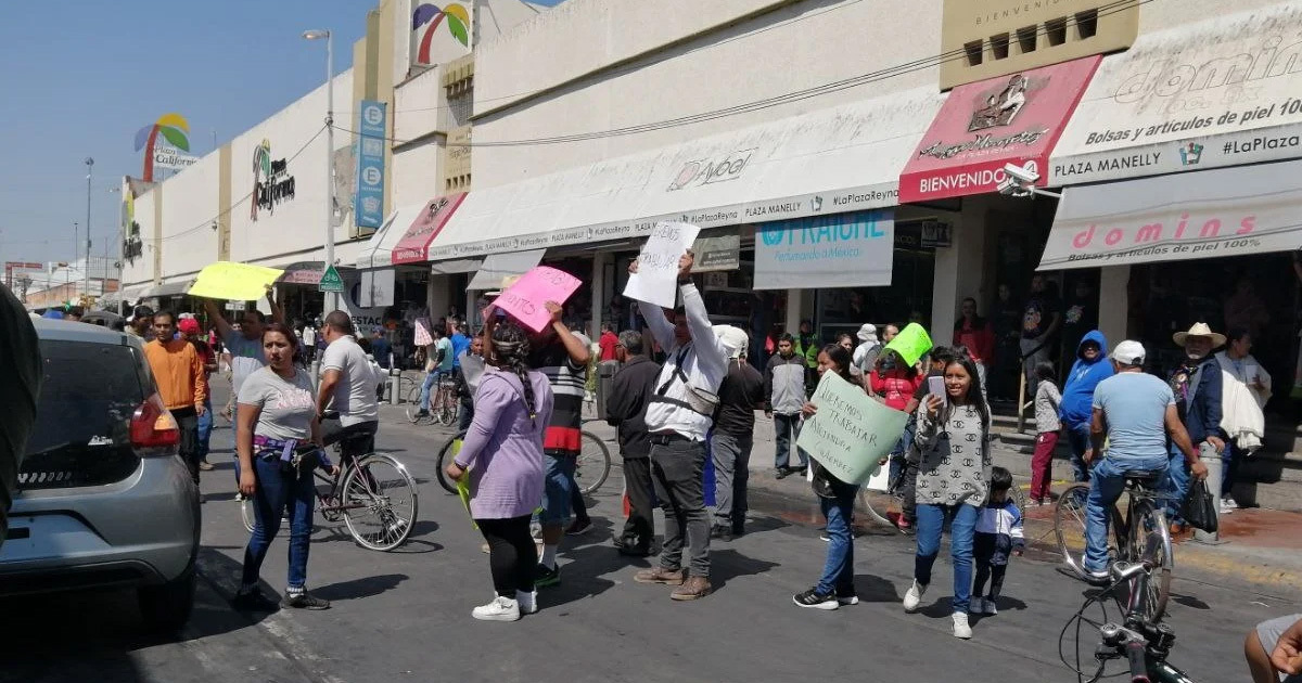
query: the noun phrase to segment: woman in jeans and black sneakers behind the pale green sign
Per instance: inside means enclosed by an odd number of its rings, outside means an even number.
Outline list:
[[[849,350],[829,343],[818,354],[819,377],[833,372],[854,386],[863,386],[850,376],[850,363]],[[818,406],[805,403],[801,412],[809,418],[818,412]],[[812,458],[810,467],[814,471],[814,493],[818,493],[823,518],[827,519],[827,563],[823,565],[823,578],[818,585],[792,596],[792,601],[802,608],[822,610],[857,605],[859,598],[854,593],[854,529],[850,527],[850,516],[854,514],[854,498],[859,494],[859,487],[832,476]]]

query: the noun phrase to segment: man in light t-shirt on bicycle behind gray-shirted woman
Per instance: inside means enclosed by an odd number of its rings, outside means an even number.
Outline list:
[[[380,425],[380,405],[375,395],[378,377],[366,351],[353,336],[353,320],[344,311],[326,316],[322,325],[326,353],[322,354],[316,412],[339,412],[339,419],[322,420],[323,441],[344,441],[341,464],[375,450]]]

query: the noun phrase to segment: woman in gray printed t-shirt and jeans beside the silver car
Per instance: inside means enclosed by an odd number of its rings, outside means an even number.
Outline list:
[[[232,601],[236,609],[273,610],[276,602],[258,589],[258,572],[271,541],[289,509],[289,587],[283,606],[327,609],[329,602],[311,596],[307,583],[307,548],[312,533],[312,475],[309,470],[283,471],[283,455],[303,441],[322,445],[316,394],[311,377],[294,364],[298,337],[279,323],[262,336],[267,367],[245,377],[237,398],[236,451],[240,494],[254,500],[254,526],[245,549],[243,580]]]

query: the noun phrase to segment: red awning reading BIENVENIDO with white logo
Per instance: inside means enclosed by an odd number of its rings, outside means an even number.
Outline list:
[[[1035,168],[1044,185],[1049,151],[1100,57],[960,86],[900,177],[902,203],[995,193],[1004,165]]]

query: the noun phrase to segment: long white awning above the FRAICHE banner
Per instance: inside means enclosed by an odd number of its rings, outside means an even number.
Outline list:
[[[944,99],[910,90],[474,190],[428,256],[626,239],[658,220],[715,228],[892,207]]]

